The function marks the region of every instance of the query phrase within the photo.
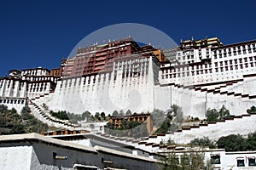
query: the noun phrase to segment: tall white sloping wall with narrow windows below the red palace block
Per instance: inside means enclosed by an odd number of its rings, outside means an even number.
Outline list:
[[[152,58],[138,59],[143,65],[137,71],[122,61],[115,63],[111,73],[91,77],[63,79],[57,82],[55,94],[47,104],[53,111],[147,112],[154,110],[154,74]],[[130,63],[129,63],[130,62]],[[136,74],[135,74],[136,73]],[[138,74],[137,74],[138,73]],[[124,77],[124,75],[127,75]]]

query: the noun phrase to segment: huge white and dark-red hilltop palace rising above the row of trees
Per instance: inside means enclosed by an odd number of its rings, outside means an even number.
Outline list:
[[[217,37],[181,41],[161,50],[131,38],[79,48],[61,67],[11,70],[0,80],[0,104],[28,103],[52,111],[166,111],[204,118],[225,105],[241,115],[255,105],[256,41],[224,45]]]

